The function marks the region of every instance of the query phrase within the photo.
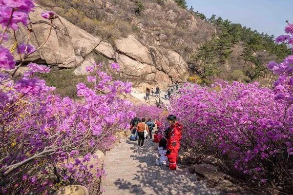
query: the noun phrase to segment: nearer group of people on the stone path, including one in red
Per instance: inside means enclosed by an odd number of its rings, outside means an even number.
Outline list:
[[[153,139],[154,142],[159,142],[158,152],[160,158],[156,159],[156,164],[158,166],[166,165],[169,169],[176,170],[183,125],[177,121],[177,117],[174,115],[169,115],[166,119],[170,126],[165,132],[156,131]],[[156,125],[157,127],[159,126],[159,123],[157,121],[155,124],[151,118],[146,121],[146,118],[134,117],[131,120],[130,130],[138,132],[139,148],[144,145],[145,138],[152,139],[152,131]],[[160,134],[161,136],[159,136]]]

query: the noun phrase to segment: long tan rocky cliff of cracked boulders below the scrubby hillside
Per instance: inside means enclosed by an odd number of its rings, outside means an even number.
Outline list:
[[[30,28],[33,30],[30,44],[37,48],[47,39],[51,24],[41,17],[44,9],[36,6],[30,15]],[[27,29],[21,28],[17,32],[19,41],[27,39],[26,31]],[[13,42],[6,44],[9,48],[14,47]],[[93,62],[118,62],[121,66],[121,78],[134,83],[167,85],[186,80],[188,77],[187,63],[173,50],[143,44],[136,35],[128,35],[109,43],[87,33],[61,16],[52,25],[47,42],[26,61],[59,69],[75,69],[74,74],[78,76],[85,76],[85,67]]]

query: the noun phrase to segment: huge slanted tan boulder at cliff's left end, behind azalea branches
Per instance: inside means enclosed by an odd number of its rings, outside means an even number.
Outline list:
[[[35,11],[29,15],[33,30],[29,43],[38,48],[46,41],[49,34],[50,36],[39,51],[26,59],[27,62],[34,61],[47,65],[58,65],[63,68],[73,68],[101,42],[100,38],[92,36],[60,16],[54,21],[50,33],[49,20],[45,20],[41,16],[44,11],[36,4]],[[11,32],[10,36],[12,36]],[[19,42],[25,42],[27,39],[26,28],[21,26],[20,30],[17,31],[17,38]],[[14,42],[7,42],[4,46],[13,48]],[[16,52],[15,59],[19,59]]]

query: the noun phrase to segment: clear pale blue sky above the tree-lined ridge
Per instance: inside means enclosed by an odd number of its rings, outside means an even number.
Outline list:
[[[284,34],[285,20],[293,23],[293,0],[186,0],[188,8],[212,14],[258,32]]]

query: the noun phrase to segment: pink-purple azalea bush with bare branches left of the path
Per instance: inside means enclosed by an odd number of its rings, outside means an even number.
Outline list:
[[[50,71],[45,65],[29,63],[30,70],[17,77],[25,59],[45,42],[35,48],[29,40],[15,39],[15,51],[2,45],[19,25],[27,26],[33,8],[33,0],[0,0],[0,194],[51,194],[69,184],[97,192],[95,179],[103,171],[95,152],[107,149],[113,133],[134,117],[131,103],[119,98],[130,93],[131,83],[113,80],[101,71],[102,64],[90,64],[87,83],[77,85],[79,99],[73,100],[36,77]],[[42,17],[52,26],[58,18],[51,11]],[[108,68],[119,71],[116,63]]]

